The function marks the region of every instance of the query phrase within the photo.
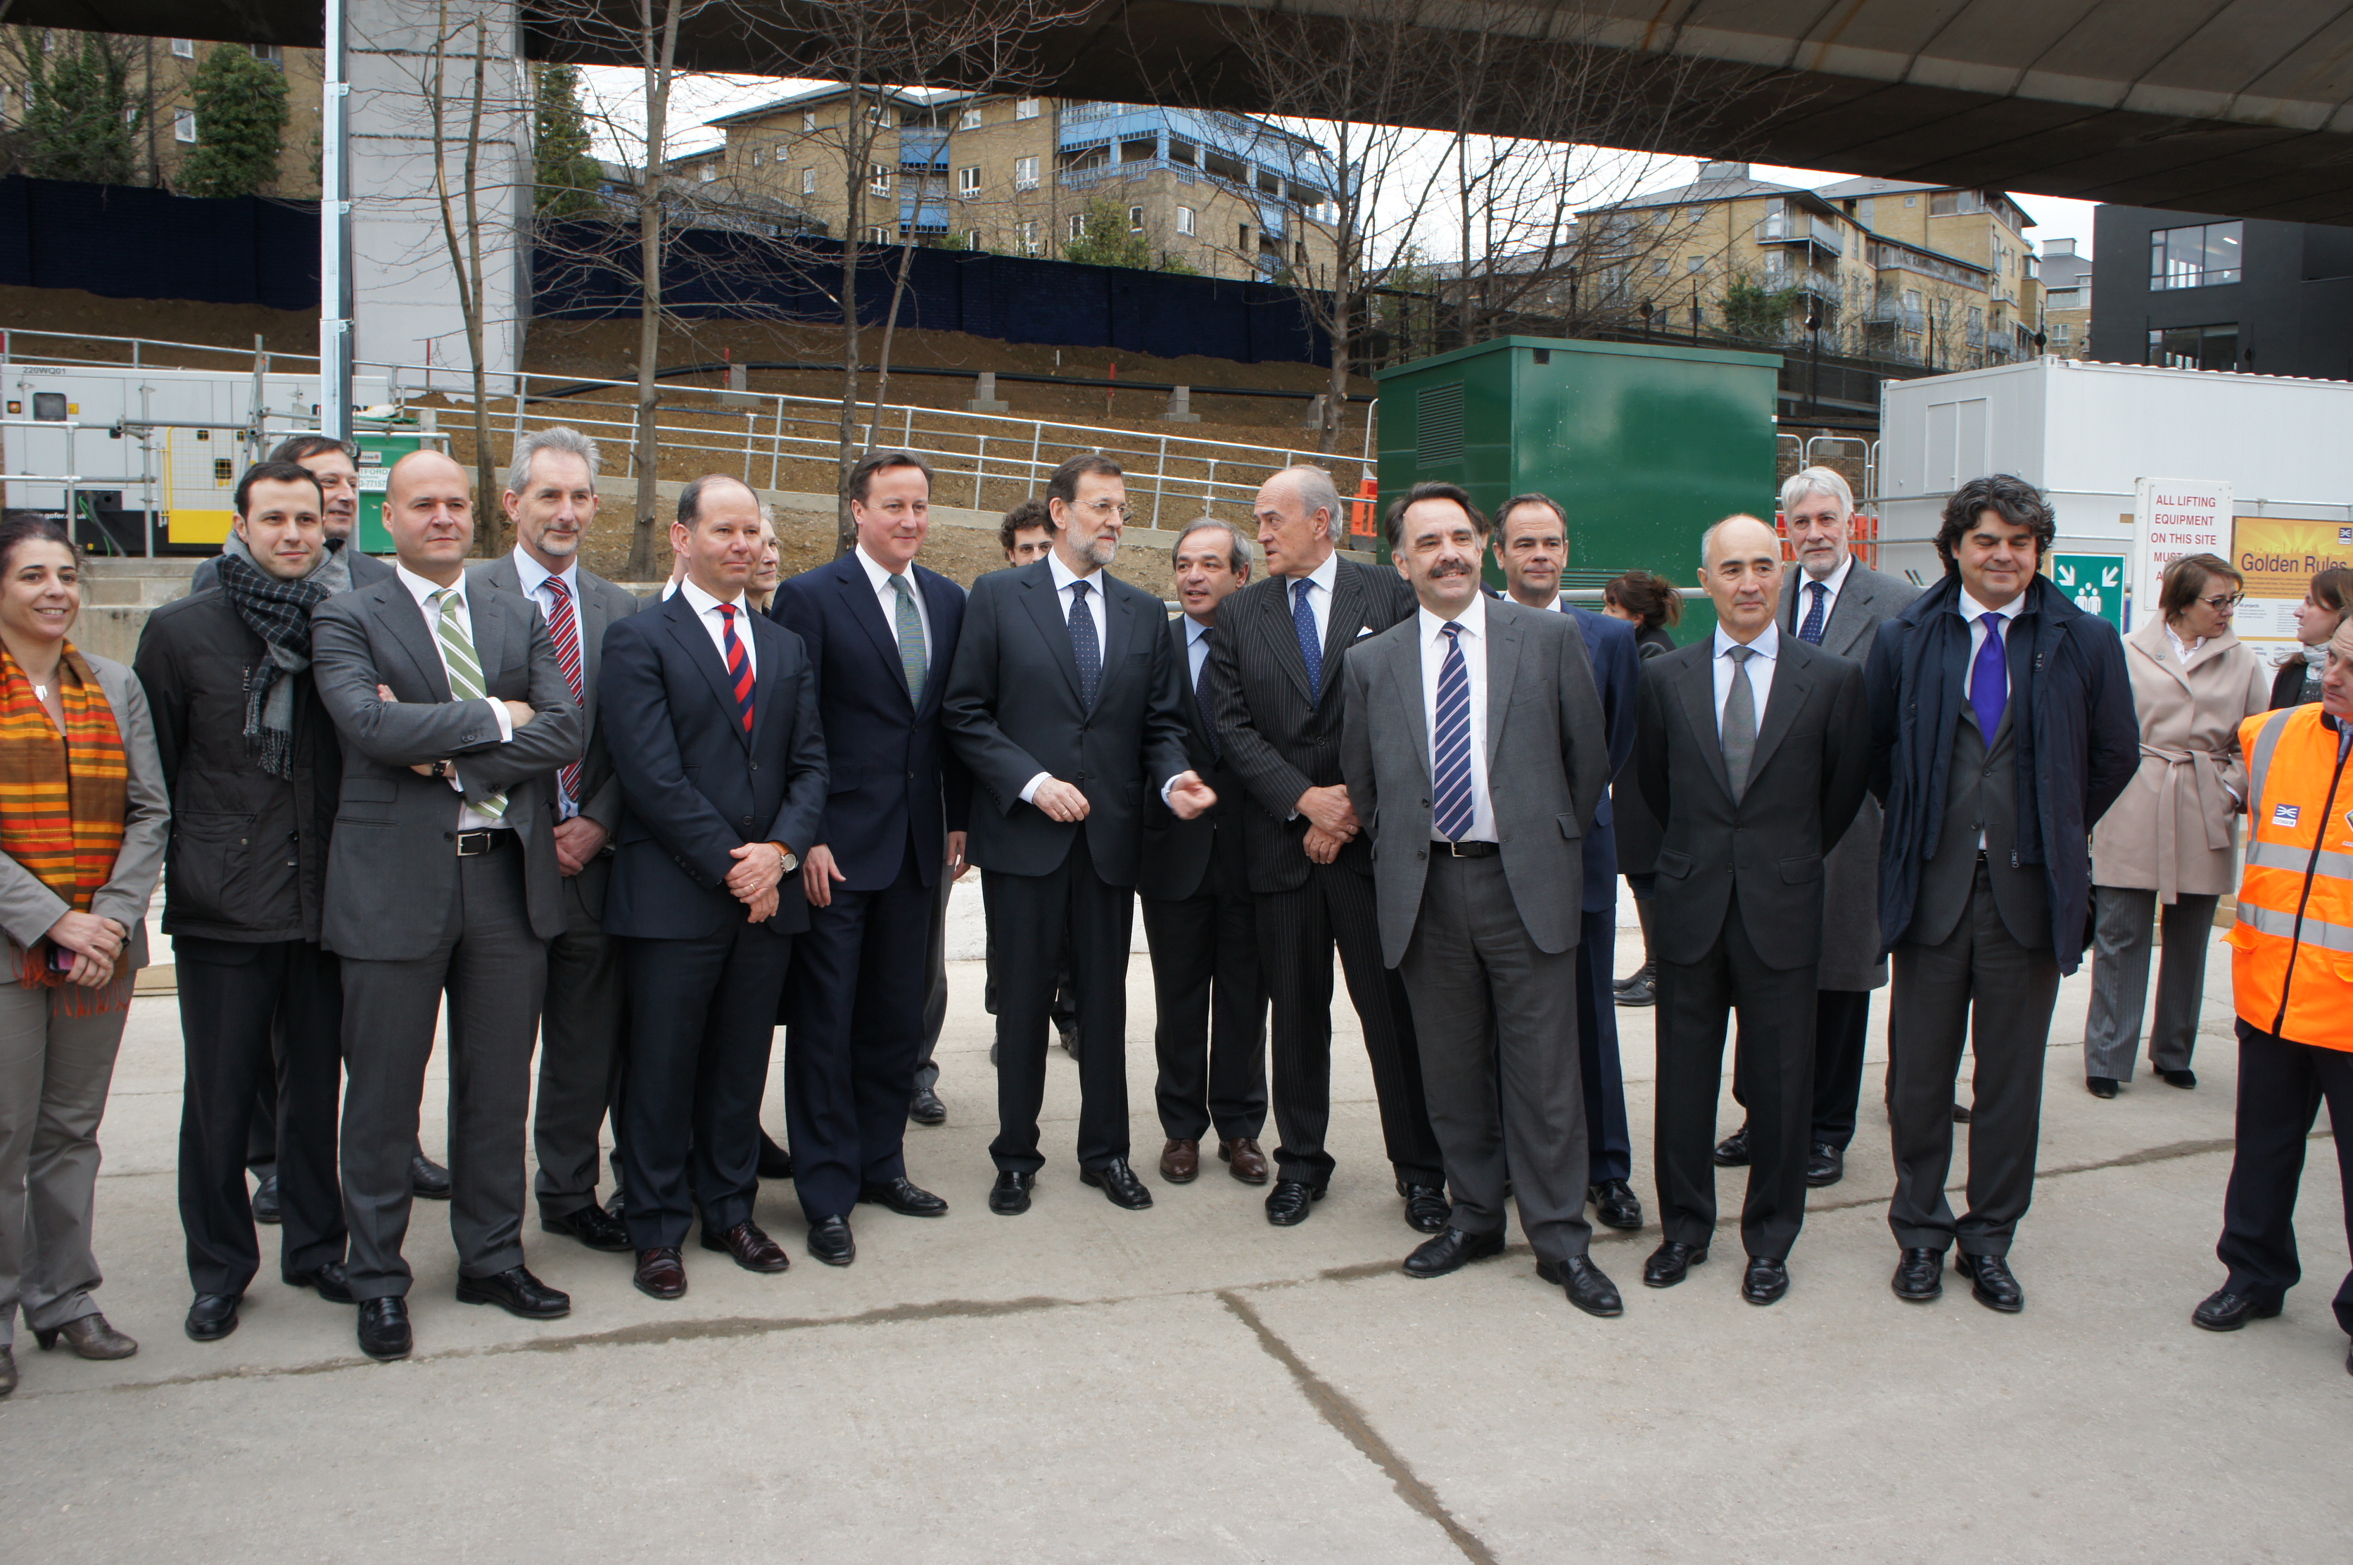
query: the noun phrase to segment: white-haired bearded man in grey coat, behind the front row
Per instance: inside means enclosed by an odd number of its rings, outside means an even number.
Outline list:
[[[1798,551],[1798,570],[1781,574],[1781,633],[1864,661],[1880,621],[1901,614],[1920,588],[1854,558],[1854,490],[1838,468],[1805,468],[1784,482],[1781,520]],[[1821,861],[1821,965],[1814,986],[1814,1134],[1805,1181],[1819,1188],[1847,1174],[1871,991],[1887,986],[1887,958],[1880,953],[1880,805],[1868,793],[1847,835]],[[1739,1099],[1739,1087],[1732,1097]],[[1715,1163],[1748,1163],[1748,1125],[1722,1139]]]

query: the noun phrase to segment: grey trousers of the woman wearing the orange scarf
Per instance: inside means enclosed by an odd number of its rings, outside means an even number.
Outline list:
[[[73,1017],[87,988],[26,988],[0,941],[0,1348],[16,1308],[35,1332],[96,1316],[89,1210],[99,1188],[99,1118],[129,1005]],[[129,974],[118,974],[118,984]]]

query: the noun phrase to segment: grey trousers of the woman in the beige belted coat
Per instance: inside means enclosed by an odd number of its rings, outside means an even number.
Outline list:
[[[2205,955],[2214,939],[2221,897],[2181,894],[2165,908],[2165,965],[2158,970],[2158,1021],[2148,1028],[2148,1064],[2188,1071],[2205,1007]],[[2092,934],[2092,1012],[2082,1024],[2082,1073],[2132,1080],[2148,1005],[2148,946],[2158,894],[2125,885],[2094,885],[2099,920]]]

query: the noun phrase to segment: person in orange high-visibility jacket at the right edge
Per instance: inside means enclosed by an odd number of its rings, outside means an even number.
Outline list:
[[[2238,1010],[2238,1156],[2224,1196],[2224,1285],[2191,1313],[2209,1332],[2280,1313],[2297,1266],[2304,1148],[2329,1104],[2353,1243],[2353,624],[2337,628],[2320,704],[2247,718],[2247,868],[2231,927]],[[2337,1287],[2353,1334],[2353,1273]],[[2346,1353],[2353,1374],[2353,1353]]]

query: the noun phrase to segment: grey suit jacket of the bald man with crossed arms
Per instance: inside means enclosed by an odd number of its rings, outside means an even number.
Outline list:
[[[311,612],[311,678],[344,739],[322,923],[336,955],[419,960],[442,937],[456,892],[459,800],[447,779],[409,770],[433,760],[459,762],[468,800],[506,793],[532,934],[562,934],[548,772],[579,758],[581,713],[534,605],[468,584],[466,612],[485,694],[525,701],[534,713],[506,744],[487,701],[449,699],[435,631],[398,577],[336,593]],[[376,685],[395,699],[376,699]]]

